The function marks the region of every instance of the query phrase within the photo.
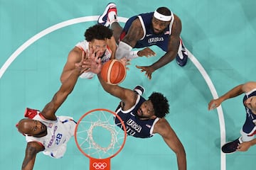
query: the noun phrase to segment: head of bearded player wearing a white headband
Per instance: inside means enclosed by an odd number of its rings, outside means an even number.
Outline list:
[[[152,27],[154,33],[162,33],[163,30],[169,26],[171,20],[173,19],[171,11],[166,7],[159,7],[154,11],[154,16],[152,18]]]

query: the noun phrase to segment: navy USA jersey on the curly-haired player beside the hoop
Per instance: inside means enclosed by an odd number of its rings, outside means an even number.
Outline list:
[[[137,117],[137,111],[144,101],[146,101],[145,98],[138,95],[137,101],[134,106],[132,106],[132,108],[129,108],[127,111],[122,110],[122,101],[117,107],[116,113],[124,121],[124,125],[127,129],[127,135],[140,138],[152,137],[154,135],[154,125],[159,120],[159,118],[140,120]],[[121,127],[119,119],[115,118],[114,122],[119,127]]]

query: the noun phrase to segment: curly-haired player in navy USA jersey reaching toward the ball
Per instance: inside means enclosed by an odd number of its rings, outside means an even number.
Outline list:
[[[90,72],[97,74],[100,84],[107,93],[121,100],[116,113],[122,118],[127,128],[127,134],[133,137],[148,138],[155,134],[161,135],[164,142],[176,154],[178,169],[186,170],[186,152],[171,125],[164,118],[169,113],[169,103],[163,94],[152,93],[149,99],[140,94],[144,89],[137,86],[134,91],[118,85],[107,84],[101,77],[102,62],[85,62]],[[138,92],[138,93],[137,93]],[[117,125],[119,120],[115,119]]]

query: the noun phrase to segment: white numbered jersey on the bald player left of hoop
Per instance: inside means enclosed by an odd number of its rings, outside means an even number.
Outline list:
[[[47,127],[47,135],[43,137],[26,136],[26,142],[38,142],[45,149],[43,154],[50,157],[63,157],[70,137],[75,133],[76,123],[68,116],[58,116],[57,120],[47,120],[40,113],[33,120],[39,120]]]

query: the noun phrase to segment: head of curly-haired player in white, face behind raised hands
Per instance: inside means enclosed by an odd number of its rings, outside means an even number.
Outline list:
[[[96,24],[85,30],[85,40],[89,42],[90,47],[95,52],[100,51],[100,55],[103,55],[107,49],[107,40],[113,35],[113,31],[110,28]]]

